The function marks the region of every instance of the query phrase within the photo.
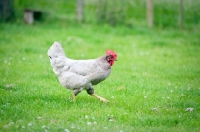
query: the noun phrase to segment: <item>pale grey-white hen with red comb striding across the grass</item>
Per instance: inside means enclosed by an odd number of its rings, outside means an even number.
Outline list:
[[[47,54],[60,84],[73,91],[73,100],[82,90],[86,90],[100,101],[109,102],[96,95],[93,86],[110,75],[111,66],[117,58],[114,51],[107,50],[106,55],[96,59],[73,60],[66,57],[60,43],[54,42]]]

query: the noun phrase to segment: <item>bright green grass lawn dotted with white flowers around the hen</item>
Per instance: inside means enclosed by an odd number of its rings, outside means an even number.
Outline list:
[[[107,25],[0,25],[0,131],[200,131],[200,32]],[[52,71],[47,50],[118,61],[95,87],[72,102]],[[186,112],[186,108],[194,108]]]

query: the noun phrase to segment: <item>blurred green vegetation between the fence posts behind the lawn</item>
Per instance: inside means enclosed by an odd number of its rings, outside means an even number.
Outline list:
[[[9,1],[9,0],[2,0]],[[44,21],[76,23],[78,0],[10,0],[15,22],[23,20],[25,9],[44,12]],[[181,0],[153,0],[154,26],[177,27]],[[2,2],[3,3],[3,2]],[[182,0],[183,27],[199,26],[200,1]],[[146,0],[83,0],[83,22],[129,27],[146,25]]]

